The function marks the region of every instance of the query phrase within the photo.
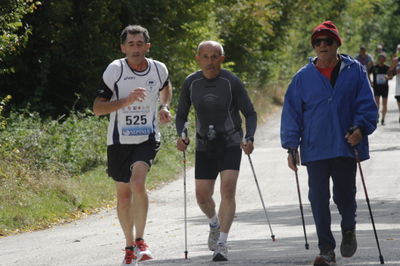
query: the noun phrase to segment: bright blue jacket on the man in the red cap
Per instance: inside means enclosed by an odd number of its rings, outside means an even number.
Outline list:
[[[353,157],[345,139],[348,129],[363,133],[357,145],[360,160],[369,158],[368,135],[377,124],[378,110],[362,65],[341,54],[335,86],[315,67],[313,58],[293,77],[285,94],[281,118],[281,144],[285,149],[300,145],[301,163]]]

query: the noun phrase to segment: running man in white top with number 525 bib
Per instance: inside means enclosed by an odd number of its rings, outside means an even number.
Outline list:
[[[116,183],[118,219],[126,241],[122,265],[152,259],[143,239],[149,205],[146,175],[160,146],[158,119],[171,120],[168,70],[146,58],[149,49],[147,29],[127,26],[121,33],[126,57],[108,65],[93,105],[96,115],[110,115],[107,171]]]

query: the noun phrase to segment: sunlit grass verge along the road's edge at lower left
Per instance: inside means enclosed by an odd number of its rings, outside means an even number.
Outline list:
[[[71,221],[114,204],[114,184],[103,167],[71,178],[40,171],[26,161],[1,161],[0,236]]]

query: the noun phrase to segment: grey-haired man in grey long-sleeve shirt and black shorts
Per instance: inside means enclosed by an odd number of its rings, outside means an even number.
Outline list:
[[[189,75],[182,87],[176,113],[176,130],[181,136],[190,106],[196,112],[196,198],[210,219],[208,246],[213,260],[227,260],[226,241],[235,214],[235,192],[242,149],[253,151],[257,114],[243,83],[231,72],[221,69],[224,51],[220,43],[199,44],[196,60],[201,68]],[[242,120],[246,119],[243,139]],[[184,151],[189,139],[179,138],[177,148]],[[215,180],[221,176],[221,203],[218,216],[212,198]]]

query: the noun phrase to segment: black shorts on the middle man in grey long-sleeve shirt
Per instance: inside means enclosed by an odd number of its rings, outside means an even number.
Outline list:
[[[206,151],[196,151],[196,179],[216,179],[223,170],[239,170],[242,149],[239,146],[228,147],[217,157],[209,156]]]

